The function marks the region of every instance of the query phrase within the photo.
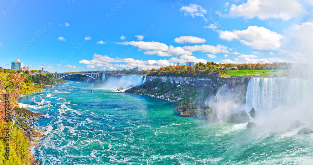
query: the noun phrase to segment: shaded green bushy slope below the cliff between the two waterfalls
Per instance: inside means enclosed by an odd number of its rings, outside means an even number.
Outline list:
[[[206,118],[209,114],[208,106],[205,104],[206,98],[214,95],[217,91],[207,87],[177,85],[168,81],[162,82],[156,78],[126,92],[174,101],[179,104],[176,108],[179,111],[183,111],[190,116]]]

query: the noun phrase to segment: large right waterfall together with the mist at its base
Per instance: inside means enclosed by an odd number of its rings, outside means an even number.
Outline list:
[[[269,132],[295,128],[296,121],[310,125],[312,87],[308,78],[251,78],[245,106],[255,109],[253,122]]]

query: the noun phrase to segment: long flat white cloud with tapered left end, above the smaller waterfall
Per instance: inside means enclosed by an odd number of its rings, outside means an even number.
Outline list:
[[[131,41],[131,42],[123,42],[123,43],[117,43],[117,44],[123,44],[123,45],[132,45],[139,47],[143,50],[160,50],[160,51],[167,51],[168,46],[164,43],[160,42],[145,42],[145,41]]]

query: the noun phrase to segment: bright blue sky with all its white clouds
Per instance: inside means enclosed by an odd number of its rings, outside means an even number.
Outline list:
[[[58,72],[177,62],[310,63],[313,0],[0,4],[0,66]],[[124,36],[124,37],[123,37]]]

